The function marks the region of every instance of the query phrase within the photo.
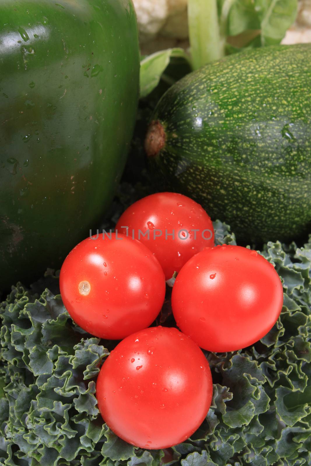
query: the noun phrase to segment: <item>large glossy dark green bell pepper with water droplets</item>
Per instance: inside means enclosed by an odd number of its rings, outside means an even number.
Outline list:
[[[0,289],[100,227],[138,82],[131,0],[0,0]]]

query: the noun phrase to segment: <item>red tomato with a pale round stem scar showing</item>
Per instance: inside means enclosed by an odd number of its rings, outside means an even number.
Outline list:
[[[99,235],[73,248],[62,264],[60,288],[80,327],[118,340],[154,321],[163,305],[165,278],[142,243],[111,233],[111,239]]]

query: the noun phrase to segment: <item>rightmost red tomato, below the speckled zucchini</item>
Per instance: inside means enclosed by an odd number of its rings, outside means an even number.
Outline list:
[[[283,287],[272,264],[241,246],[208,248],[180,270],[172,308],[179,328],[214,352],[249,346],[273,327]]]

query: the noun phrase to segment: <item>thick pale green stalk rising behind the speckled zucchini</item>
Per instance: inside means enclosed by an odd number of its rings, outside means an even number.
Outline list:
[[[188,23],[194,69],[225,55],[216,0],[188,0]]]

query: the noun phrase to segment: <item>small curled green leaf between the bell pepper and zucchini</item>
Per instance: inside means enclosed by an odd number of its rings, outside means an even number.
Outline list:
[[[190,63],[187,53],[182,48],[168,48],[143,58],[140,62],[140,97],[148,96],[158,86],[161,78],[170,80],[169,76],[163,74],[170,61],[173,60],[175,60],[175,65],[180,60]],[[174,80],[170,84],[173,82]]]

